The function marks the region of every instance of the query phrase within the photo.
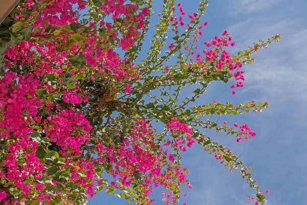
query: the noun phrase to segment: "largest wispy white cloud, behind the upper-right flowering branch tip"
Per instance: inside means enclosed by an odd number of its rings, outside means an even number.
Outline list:
[[[279,99],[283,96],[282,99],[306,102],[307,29],[301,28],[300,20],[276,19],[274,16],[251,18],[228,28],[237,40],[238,50],[251,46],[258,37],[265,40],[277,32],[282,35],[280,42],[272,43],[268,50],[260,49],[255,62],[245,67],[246,87]],[[257,57],[261,60],[257,61]]]

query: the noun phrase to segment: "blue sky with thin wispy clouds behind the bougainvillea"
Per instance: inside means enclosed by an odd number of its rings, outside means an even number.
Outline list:
[[[195,11],[198,0],[182,1],[187,14]],[[163,0],[155,0],[156,13],[161,11]],[[244,89],[235,96],[224,84],[214,83],[200,99],[201,103],[213,100],[225,103],[250,100],[270,102],[270,108],[262,113],[239,116],[222,116],[229,124],[247,123],[257,136],[249,141],[235,142],[231,136],[210,133],[210,137],[243,154],[242,160],[256,169],[262,190],[270,189],[268,205],[307,204],[307,8],[306,0],[215,0],[209,3],[203,20],[209,24],[203,32],[199,47],[204,41],[229,31],[236,42],[230,49],[235,53],[251,46],[258,38],[266,39],[280,33],[279,43],[267,50],[259,50],[255,63],[244,66],[246,82]],[[151,38],[157,16],[152,17],[148,32]],[[148,42],[148,40],[146,41]],[[148,46],[145,44],[145,46]],[[193,189],[183,187],[188,204],[205,205],[248,205],[253,204],[247,196],[254,191],[244,182],[239,173],[229,172],[208,155],[200,146],[194,145],[183,157],[183,165],[190,170]],[[160,190],[153,195],[161,201]],[[89,205],[126,204],[102,191],[89,199]]]

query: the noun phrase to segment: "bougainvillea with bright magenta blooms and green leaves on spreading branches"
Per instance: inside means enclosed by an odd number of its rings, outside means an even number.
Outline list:
[[[248,125],[212,119],[268,103],[191,104],[213,81],[235,94],[244,86],[242,66],[280,35],[231,56],[227,31],[199,40],[208,1],[186,14],[164,0],[144,51],[152,3],[22,0],[0,25],[1,204],[86,204],[99,191],[153,204],[156,187],[165,189],[165,204],[186,204],[180,188],[192,185],[181,153],[193,146],[238,170],[255,189],[249,200],[266,202],[254,170],[202,130],[249,139],[255,133]]]

